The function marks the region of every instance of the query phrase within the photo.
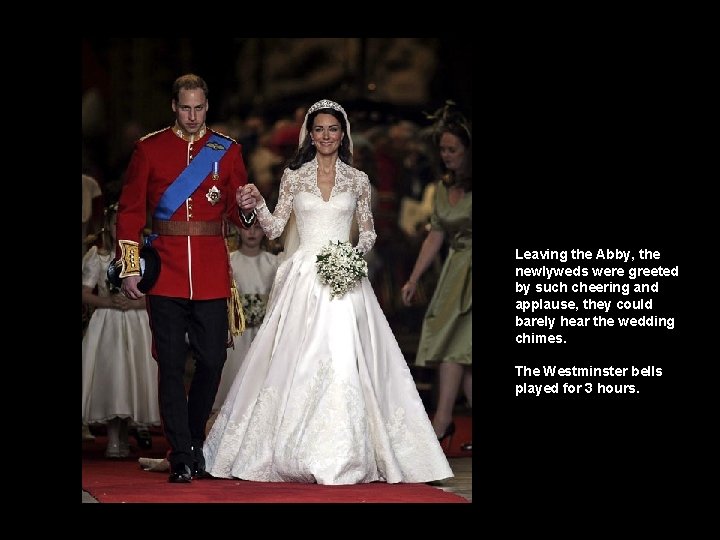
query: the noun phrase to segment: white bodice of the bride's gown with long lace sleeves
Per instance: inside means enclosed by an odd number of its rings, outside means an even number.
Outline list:
[[[262,205],[257,209],[258,222],[268,238],[277,238],[294,210],[300,249],[317,253],[329,241],[350,238],[354,212],[360,233],[355,247],[367,253],[377,237],[367,174],[338,160],[335,185],[325,201],[317,185],[317,167],[317,159],[313,159],[297,170],[285,169],[275,211],[271,214],[267,206]]]

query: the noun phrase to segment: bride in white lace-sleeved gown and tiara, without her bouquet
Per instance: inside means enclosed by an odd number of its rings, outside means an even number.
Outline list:
[[[269,238],[291,214],[297,230],[288,225],[265,319],[205,441],[212,476],[318,484],[453,476],[370,282],[331,299],[317,277],[317,254],[349,239],[353,215],[357,249],[375,242],[369,180],[347,164],[351,154],[345,111],[319,101],[274,213],[253,184],[243,191]]]

